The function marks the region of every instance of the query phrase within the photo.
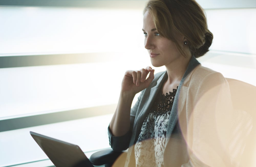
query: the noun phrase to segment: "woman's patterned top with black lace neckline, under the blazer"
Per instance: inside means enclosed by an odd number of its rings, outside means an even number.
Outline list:
[[[144,120],[135,144],[136,167],[164,166],[167,125],[177,89],[173,89],[173,92],[166,95],[161,92],[157,95],[158,98]]]

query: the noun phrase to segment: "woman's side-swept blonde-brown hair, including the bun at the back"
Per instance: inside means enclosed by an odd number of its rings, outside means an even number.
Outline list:
[[[146,11],[159,34],[175,42],[184,57],[187,55],[176,40],[177,34],[187,38],[190,52],[196,58],[209,51],[213,35],[208,30],[204,10],[195,0],[150,0],[144,14]]]

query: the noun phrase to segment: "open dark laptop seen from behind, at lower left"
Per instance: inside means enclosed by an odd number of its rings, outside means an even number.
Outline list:
[[[30,131],[56,167],[94,167],[79,146]]]

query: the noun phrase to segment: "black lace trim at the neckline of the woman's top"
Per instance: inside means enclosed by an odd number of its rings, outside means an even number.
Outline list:
[[[159,92],[150,113],[153,113],[153,115],[155,116],[170,113],[173,107],[173,102],[177,89],[173,89],[173,92],[169,92],[169,94],[166,93],[166,95]]]

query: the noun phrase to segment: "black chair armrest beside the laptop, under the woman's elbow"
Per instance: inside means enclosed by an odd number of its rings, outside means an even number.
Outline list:
[[[122,153],[123,151],[116,152],[112,149],[105,149],[93,153],[90,157],[90,161],[93,165],[112,164]]]

